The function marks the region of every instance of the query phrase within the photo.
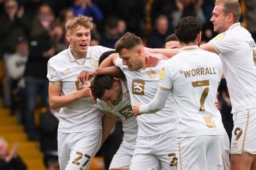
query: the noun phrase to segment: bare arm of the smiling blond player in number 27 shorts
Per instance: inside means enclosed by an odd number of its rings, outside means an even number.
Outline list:
[[[61,96],[62,84],[49,84],[49,103],[53,109],[66,107],[83,97],[90,97],[90,84],[81,91]]]

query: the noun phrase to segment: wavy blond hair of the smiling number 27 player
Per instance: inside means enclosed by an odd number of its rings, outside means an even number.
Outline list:
[[[73,30],[73,28],[76,28],[77,26],[83,26],[91,30],[93,29],[93,18],[79,15],[77,17],[73,17],[72,19],[67,20],[65,24],[66,31]]]

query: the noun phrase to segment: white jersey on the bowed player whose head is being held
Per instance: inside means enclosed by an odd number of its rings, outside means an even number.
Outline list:
[[[106,102],[97,99],[98,107],[101,110],[109,111],[117,115],[123,124],[123,144],[128,147],[134,147],[138,134],[138,124],[134,115],[131,113],[131,101],[127,87],[127,82],[120,79],[123,94],[122,99],[116,106],[109,106]]]

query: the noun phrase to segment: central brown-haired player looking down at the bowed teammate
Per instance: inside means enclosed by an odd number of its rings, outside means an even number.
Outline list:
[[[157,92],[159,73],[166,61],[158,62],[157,66],[147,68],[148,59],[141,38],[130,32],[116,42],[115,48],[120,58],[111,55],[101,63],[101,66],[115,64],[123,71],[127,79],[131,104],[150,102]],[[103,73],[101,69],[96,69],[88,74],[106,73]],[[172,96],[169,96],[163,110],[137,117],[137,122],[138,137],[130,169],[176,169],[177,117]]]

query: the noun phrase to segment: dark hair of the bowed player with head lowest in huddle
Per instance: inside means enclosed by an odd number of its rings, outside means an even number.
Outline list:
[[[115,78],[111,75],[97,75],[91,82],[93,96],[100,99],[104,95],[105,90],[112,88],[114,82]]]

